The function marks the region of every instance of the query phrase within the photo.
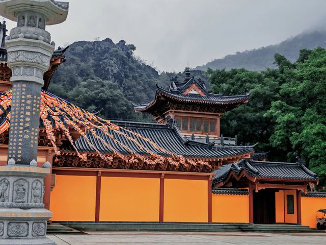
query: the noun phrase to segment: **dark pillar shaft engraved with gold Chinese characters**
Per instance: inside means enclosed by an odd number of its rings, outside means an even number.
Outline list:
[[[16,164],[29,165],[37,159],[40,93],[39,84],[13,83],[8,159]]]

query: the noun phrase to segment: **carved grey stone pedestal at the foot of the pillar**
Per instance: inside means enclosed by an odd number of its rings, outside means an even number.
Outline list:
[[[42,168],[36,161],[31,164],[0,166],[0,245],[56,244],[46,238],[46,222],[52,213],[42,202],[49,163]]]

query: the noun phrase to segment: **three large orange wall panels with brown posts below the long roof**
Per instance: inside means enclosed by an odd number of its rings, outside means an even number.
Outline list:
[[[207,174],[78,172],[54,170],[52,221],[208,222]]]

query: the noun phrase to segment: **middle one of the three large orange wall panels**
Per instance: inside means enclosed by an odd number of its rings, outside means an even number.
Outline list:
[[[158,222],[159,179],[102,177],[100,221]]]

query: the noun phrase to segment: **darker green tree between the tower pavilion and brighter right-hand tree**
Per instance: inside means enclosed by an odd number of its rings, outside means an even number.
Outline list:
[[[208,69],[207,74],[214,93],[236,95],[250,92],[248,104],[241,105],[222,116],[221,133],[226,137],[237,135],[239,142],[259,143],[257,151],[272,151],[269,157],[281,160],[269,142],[275,122],[271,120],[272,118],[263,116],[269,110],[271,102],[279,99],[278,91],[282,83],[279,71]]]

